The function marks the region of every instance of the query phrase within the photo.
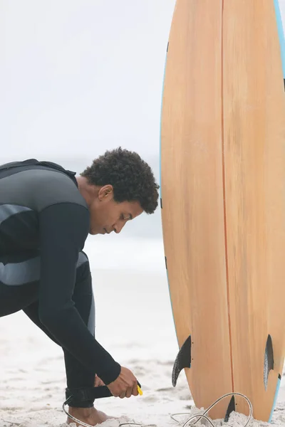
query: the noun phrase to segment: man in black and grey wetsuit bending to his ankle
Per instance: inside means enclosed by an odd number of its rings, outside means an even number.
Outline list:
[[[94,386],[138,395],[133,373],[95,339],[88,233],[120,233],[157,208],[159,186],[138,154],[115,149],[75,176],[29,159],[0,167],[0,317],[23,310],[63,348],[69,413],[94,426]],[[68,423],[73,422],[68,417]]]

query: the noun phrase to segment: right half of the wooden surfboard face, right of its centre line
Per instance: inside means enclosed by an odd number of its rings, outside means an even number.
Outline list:
[[[234,389],[268,421],[285,338],[285,96],[274,1],[225,1],[223,140]],[[274,371],[264,387],[268,334]],[[247,412],[244,401],[237,411]]]

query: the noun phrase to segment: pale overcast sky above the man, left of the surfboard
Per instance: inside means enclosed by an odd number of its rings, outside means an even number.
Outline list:
[[[1,159],[159,154],[175,0],[0,0]],[[1,163],[1,162],[0,162]]]

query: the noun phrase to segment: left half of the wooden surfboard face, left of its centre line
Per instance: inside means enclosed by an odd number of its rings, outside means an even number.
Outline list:
[[[207,11],[207,14],[205,14]],[[197,406],[232,391],[222,179],[222,4],[177,1],[162,102],[162,225],[180,347]],[[211,415],[226,413],[229,399]]]

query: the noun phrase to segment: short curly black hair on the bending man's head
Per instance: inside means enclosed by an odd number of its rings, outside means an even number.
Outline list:
[[[153,214],[157,208],[158,189],[150,166],[136,152],[118,147],[106,151],[81,176],[89,184],[103,186],[111,184],[114,200],[139,201],[146,214]]]

